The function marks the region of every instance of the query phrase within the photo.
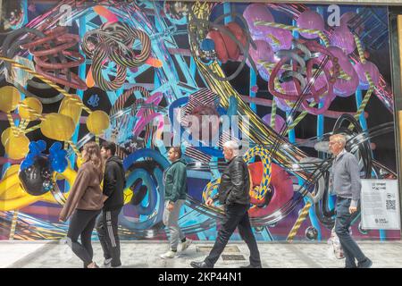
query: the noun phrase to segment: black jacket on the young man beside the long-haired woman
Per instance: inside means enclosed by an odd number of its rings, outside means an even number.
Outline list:
[[[109,197],[105,200],[106,211],[113,211],[124,205],[125,185],[126,178],[121,159],[118,156],[111,156],[106,161],[104,176],[104,195]]]

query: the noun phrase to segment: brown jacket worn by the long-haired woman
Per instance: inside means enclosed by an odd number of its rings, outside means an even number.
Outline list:
[[[100,187],[102,177],[102,172],[99,172],[92,163],[86,162],[81,165],[69,198],[60,213],[61,221],[67,221],[75,209],[99,210],[104,206],[104,196]]]

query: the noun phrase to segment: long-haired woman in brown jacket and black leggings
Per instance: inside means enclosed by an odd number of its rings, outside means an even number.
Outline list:
[[[98,268],[92,261],[94,252],[91,245],[92,231],[96,216],[104,206],[100,183],[103,178],[104,162],[100,147],[89,142],[82,152],[83,164],[71,188],[70,195],[60,213],[60,221],[65,222],[71,216],[67,243],[77,257],[84,262],[85,268]],[[80,236],[81,243],[78,242]]]

